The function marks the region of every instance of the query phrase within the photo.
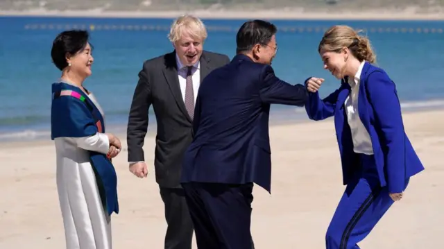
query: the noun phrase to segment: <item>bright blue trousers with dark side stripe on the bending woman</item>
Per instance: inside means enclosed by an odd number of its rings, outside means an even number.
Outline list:
[[[327,249],[359,249],[357,243],[393,205],[387,188],[380,187],[373,155],[359,154],[359,159],[355,178],[345,188],[328,227]]]

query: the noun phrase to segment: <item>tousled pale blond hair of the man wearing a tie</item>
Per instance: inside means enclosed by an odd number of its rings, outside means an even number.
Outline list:
[[[193,15],[182,15],[171,24],[168,38],[171,42],[177,42],[182,37],[183,32],[187,32],[191,37],[202,39],[207,38],[207,29],[203,22]]]

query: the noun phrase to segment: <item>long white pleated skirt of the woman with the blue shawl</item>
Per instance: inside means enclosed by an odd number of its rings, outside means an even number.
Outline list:
[[[103,209],[91,164],[59,160],[57,187],[67,249],[112,249],[111,219]]]

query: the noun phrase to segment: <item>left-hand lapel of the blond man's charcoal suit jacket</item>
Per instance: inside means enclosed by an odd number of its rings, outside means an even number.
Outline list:
[[[165,76],[165,80],[169,85],[169,89],[178,104],[180,111],[187,117],[187,120],[191,122],[191,117],[185,108],[185,103],[183,102],[182,93],[180,92],[179,78],[178,78],[178,69],[176,64],[176,52],[169,53],[165,56],[165,67],[163,69],[163,74]]]

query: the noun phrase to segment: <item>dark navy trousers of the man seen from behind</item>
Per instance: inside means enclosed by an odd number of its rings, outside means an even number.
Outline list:
[[[198,249],[254,248],[250,233],[253,183],[182,184]]]

